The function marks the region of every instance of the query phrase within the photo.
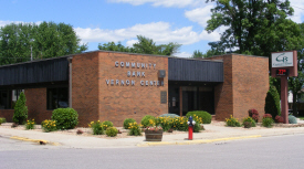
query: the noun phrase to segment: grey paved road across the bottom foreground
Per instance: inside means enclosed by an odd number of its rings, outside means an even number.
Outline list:
[[[0,168],[303,169],[304,135],[205,145],[73,149],[0,137]]]

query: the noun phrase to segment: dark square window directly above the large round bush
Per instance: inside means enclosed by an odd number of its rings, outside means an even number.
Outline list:
[[[48,88],[48,109],[66,108],[69,107],[69,88],[57,87]]]

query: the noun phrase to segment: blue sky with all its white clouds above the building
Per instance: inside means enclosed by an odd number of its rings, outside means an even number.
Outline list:
[[[98,43],[120,41],[132,46],[136,35],[157,44],[182,44],[176,56],[189,57],[195,50],[206,52],[208,42],[218,41],[224,28],[205,31],[210,9],[206,0],[2,0],[0,27],[9,23],[53,21],[73,25],[88,51]],[[291,0],[295,13],[291,19],[304,21],[304,1]]]

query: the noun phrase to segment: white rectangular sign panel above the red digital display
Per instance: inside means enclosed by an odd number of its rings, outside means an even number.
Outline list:
[[[271,65],[272,67],[293,66],[293,52],[272,53]]]

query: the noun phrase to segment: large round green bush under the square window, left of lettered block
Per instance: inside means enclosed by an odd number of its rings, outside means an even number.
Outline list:
[[[73,108],[57,108],[53,110],[52,119],[56,122],[57,129],[72,129],[78,124],[78,114]]]

